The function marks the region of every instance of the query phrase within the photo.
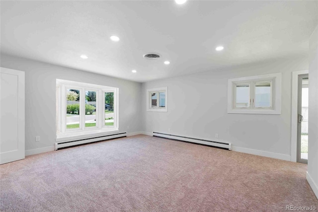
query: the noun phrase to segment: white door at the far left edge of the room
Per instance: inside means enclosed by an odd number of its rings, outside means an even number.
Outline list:
[[[24,72],[0,68],[0,164],[24,159]]]

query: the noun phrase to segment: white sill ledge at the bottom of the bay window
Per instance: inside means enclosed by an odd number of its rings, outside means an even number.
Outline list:
[[[88,139],[97,136],[108,135],[112,133],[118,133],[118,128],[103,128],[98,130],[89,130],[89,131],[80,131],[80,132],[66,132],[66,133],[57,133],[56,142],[59,141],[74,141],[78,139]]]

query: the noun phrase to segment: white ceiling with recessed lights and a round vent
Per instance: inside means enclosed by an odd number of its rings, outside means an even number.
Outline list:
[[[139,82],[306,57],[318,23],[316,0],[188,0],[182,5],[173,0],[1,0],[0,6],[1,53]],[[120,41],[111,41],[111,35]],[[222,52],[215,51],[219,45]],[[162,59],[144,59],[149,52]]]

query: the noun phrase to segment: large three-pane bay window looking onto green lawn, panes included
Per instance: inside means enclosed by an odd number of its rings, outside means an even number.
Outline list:
[[[118,88],[62,79],[56,85],[57,138],[118,131]]]

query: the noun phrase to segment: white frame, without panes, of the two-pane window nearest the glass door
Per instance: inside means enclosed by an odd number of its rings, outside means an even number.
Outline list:
[[[228,80],[228,113],[239,114],[281,114],[282,73],[246,76]],[[255,83],[271,83],[271,107],[255,107]],[[249,107],[236,107],[236,85],[249,84]]]

